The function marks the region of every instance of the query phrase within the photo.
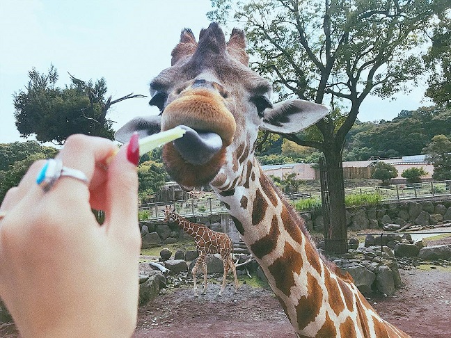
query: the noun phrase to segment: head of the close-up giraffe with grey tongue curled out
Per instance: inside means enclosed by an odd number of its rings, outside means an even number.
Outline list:
[[[259,128],[292,134],[328,112],[300,99],[272,104],[271,84],[248,68],[245,47],[238,29],[228,42],[216,23],[200,32],[198,42],[184,29],[171,67],[150,83],[150,105],[161,113],[131,120],[116,139],[125,142],[134,131],[147,136],[185,126],[185,136],[163,148],[166,169],[180,186],[230,189],[243,184]]]

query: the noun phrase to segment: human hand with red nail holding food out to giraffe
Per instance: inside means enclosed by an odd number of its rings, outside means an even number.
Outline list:
[[[1,204],[0,297],[22,337],[130,337],[134,331],[138,179],[127,145],[106,166],[115,150],[103,138],[71,136],[58,157],[84,172],[87,184],[60,177],[45,193],[35,182],[45,163],[38,161]],[[105,211],[103,225],[91,208]]]

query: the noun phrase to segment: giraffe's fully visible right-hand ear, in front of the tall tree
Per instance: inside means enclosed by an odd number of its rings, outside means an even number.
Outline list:
[[[315,124],[327,113],[329,109],[321,104],[302,99],[289,99],[274,104],[273,108],[264,111],[260,129],[277,134],[293,134]]]

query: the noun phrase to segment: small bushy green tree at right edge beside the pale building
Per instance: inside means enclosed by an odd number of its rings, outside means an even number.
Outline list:
[[[434,136],[422,152],[434,166],[433,179],[451,179],[451,141],[445,135]]]

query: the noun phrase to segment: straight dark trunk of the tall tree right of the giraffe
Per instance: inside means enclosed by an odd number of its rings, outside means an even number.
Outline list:
[[[322,204],[326,252],[347,252],[345,186],[341,153],[324,152]]]

